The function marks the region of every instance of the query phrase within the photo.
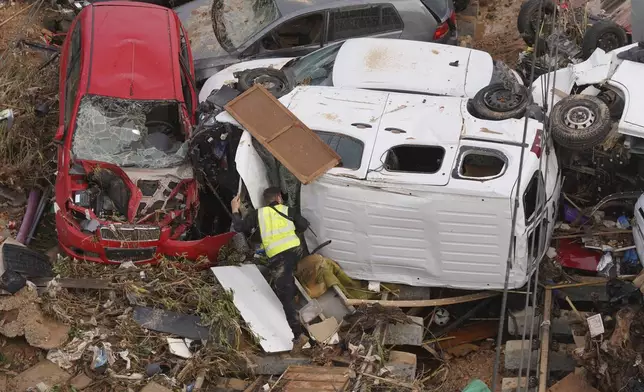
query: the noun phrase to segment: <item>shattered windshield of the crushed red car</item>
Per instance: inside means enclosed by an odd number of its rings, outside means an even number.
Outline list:
[[[176,102],[90,95],[81,100],[72,142],[75,159],[154,169],[181,164],[186,151]]]

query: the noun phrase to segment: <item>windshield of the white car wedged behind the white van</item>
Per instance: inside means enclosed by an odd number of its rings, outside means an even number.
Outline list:
[[[331,86],[333,64],[342,44],[326,46],[286,64],[295,85]]]

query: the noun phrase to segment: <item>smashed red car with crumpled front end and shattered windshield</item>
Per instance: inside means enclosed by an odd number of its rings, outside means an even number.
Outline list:
[[[186,240],[199,208],[186,159],[197,96],[176,14],[125,1],[85,7],[60,61],[56,229],[69,255],[216,260],[233,233]]]

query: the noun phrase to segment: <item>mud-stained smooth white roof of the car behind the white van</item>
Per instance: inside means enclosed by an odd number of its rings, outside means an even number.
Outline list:
[[[402,39],[355,38],[340,48],[333,85],[474,97],[492,80],[487,52]]]

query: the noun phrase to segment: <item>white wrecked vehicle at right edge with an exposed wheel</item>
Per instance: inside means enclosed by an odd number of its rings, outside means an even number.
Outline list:
[[[601,145],[616,128],[631,155],[644,155],[644,111],[639,106],[644,102],[644,47],[639,45],[608,53],[597,49],[588,60],[535,80],[533,100],[547,108],[555,142],[587,150]]]

